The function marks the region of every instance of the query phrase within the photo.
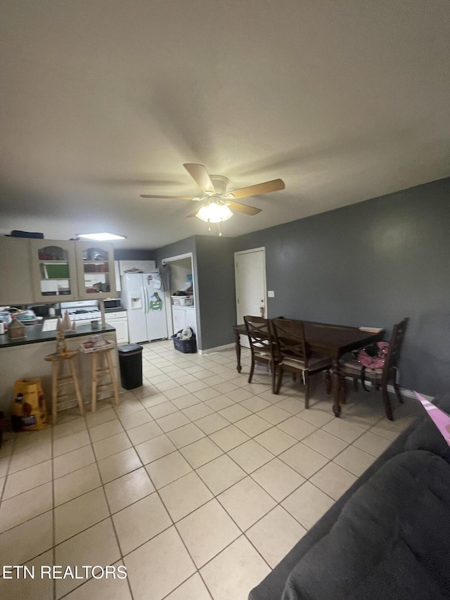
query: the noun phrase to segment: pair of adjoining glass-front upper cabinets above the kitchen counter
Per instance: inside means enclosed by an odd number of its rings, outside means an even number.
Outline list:
[[[68,302],[115,295],[112,244],[36,239],[28,242],[33,302]],[[27,262],[30,264],[30,259]]]

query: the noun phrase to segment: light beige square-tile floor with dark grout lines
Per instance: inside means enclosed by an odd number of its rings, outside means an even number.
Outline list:
[[[280,395],[248,355],[143,347],[143,387],[85,418],[10,434],[0,449],[0,564],[124,565],[128,577],[0,579],[8,599],[245,600],[409,425],[378,392],[350,392],[335,419],[321,375],[311,408]],[[349,386],[351,387],[351,386]],[[420,410],[420,409],[419,409]]]

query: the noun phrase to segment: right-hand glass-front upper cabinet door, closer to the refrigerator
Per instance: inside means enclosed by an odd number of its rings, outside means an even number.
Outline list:
[[[113,244],[75,242],[79,298],[108,298],[116,294]]]

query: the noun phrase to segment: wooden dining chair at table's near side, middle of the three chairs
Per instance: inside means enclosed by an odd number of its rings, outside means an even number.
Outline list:
[[[309,376],[319,373],[319,371],[326,371],[326,392],[327,394],[330,393],[331,359],[309,350],[304,338],[303,321],[273,319],[272,326],[278,350],[278,381],[275,393],[278,394],[280,392],[284,371],[290,371],[293,374],[302,374],[302,380],[306,386],[304,407],[309,408]]]

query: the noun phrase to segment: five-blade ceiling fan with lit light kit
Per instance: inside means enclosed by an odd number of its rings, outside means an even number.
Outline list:
[[[202,205],[191,212],[188,217],[198,217],[207,223],[219,223],[233,216],[232,210],[243,212],[244,215],[257,215],[260,208],[248,206],[235,202],[236,198],[248,198],[258,196],[262,193],[283,190],[285,184],[283,179],[272,179],[263,184],[248,186],[238,190],[226,191],[228,178],[223,175],[208,174],[204,165],[196,165],[192,162],[184,163],[184,168],[195,180],[203,192],[202,196],[161,196],[159,194],[141,194],[141,198],[173,198],[176,200],[201,200]]]

